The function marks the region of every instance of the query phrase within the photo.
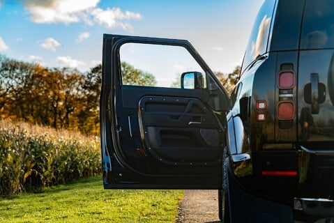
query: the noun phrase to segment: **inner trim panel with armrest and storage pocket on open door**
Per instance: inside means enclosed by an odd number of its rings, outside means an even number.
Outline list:
[[[200,100],[146,96],[139,107],[146,147],[158,160],[220,162],[219,126]]]

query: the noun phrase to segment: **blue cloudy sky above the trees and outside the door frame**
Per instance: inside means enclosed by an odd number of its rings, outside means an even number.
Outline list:
[[[0,54],[86,71],[103,33],[189,40],[214,71],[241,65],[264,0],[0,0]]]

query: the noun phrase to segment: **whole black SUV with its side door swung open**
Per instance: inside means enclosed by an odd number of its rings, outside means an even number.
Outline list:
[[[229,96],[186,40],[103,38],[103,183],[216,189],[225,222],[334,220],[334,1],[265,1]]]

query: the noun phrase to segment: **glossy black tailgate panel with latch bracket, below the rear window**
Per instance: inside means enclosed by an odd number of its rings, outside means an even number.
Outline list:
[[[299,57],[299,141],[319,141],[319,149],[324,142],[334,141],[333,96],[328,91],[334,84],[331,80],[333,54],[333,49],[305,50],[300,52]],[[303,111],[307,112],[303,114]],[[305,128],[303,124],[308,119],[311,122]]]

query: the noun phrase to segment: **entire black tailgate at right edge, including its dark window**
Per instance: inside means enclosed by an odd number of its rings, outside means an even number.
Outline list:
[[[334,141],[334,2],[306,1],[299,62],[300,141]]]

